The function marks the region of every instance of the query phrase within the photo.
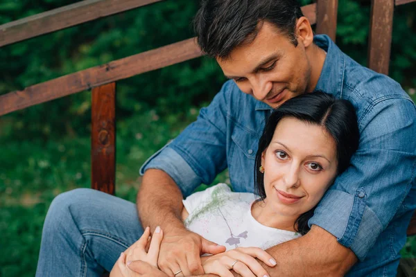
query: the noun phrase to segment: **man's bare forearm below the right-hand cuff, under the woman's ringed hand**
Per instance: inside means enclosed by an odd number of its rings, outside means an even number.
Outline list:
[[[277,262],[275,267],[268,267],[259,260],[270,276],[344,276],[357,262],[351,249],[343,247],[331,233],[315,225],[301,238],[266,251]]]

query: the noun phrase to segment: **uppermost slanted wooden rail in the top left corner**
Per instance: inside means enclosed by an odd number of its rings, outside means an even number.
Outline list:
[[[0,47],[164,0],[85,0],[0,26]]]

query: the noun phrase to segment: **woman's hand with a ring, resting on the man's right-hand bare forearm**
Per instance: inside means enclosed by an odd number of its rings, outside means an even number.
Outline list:
[[[201,257],[201,260],[205,274],[233,277],[230,270],[234,270],[243,277],[268,277],[266,269],[255,258],[269,267],[276,265],[269,253],[257,247],[239,247],[214,256]]]

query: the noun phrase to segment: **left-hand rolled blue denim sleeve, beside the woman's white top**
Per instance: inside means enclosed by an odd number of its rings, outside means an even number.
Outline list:
[[[225,82],[211,104],[200,110],[195,122],[144,163],[142,175],[150,168],[164,170],[186,197],[198,185],[211,184],[227,168],[227,95],[232,89],[229,84],[232,83]]]

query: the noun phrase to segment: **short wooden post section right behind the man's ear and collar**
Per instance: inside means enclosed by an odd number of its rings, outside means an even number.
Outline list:
[[[335,42],[338,0],[318,0],[316,10],[316,33],[327,34]]]

